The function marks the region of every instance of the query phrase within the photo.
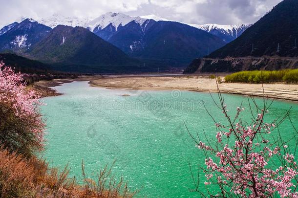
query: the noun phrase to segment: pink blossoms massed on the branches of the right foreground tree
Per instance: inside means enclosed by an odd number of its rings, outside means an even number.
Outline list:
[[[237,108],[236,117],[243,110]],[[231,122],[229,129],[217,123],[220,132],[215,135],[216,146],[199,143],[199,149],[214,154],[213,158],[205,159],[206,185],[213,183],[220,189],[226,187],[226,191],[241,197],[274,197],[278,194],[282,198],[298,198],[298,192],[295,192],[297,182],[293,183],[298,176],[295,157],[289,153],[281,154],[280,147],[287,148],[286,145],[272,148],[272,144],[263,139],[263,134],[270,133],[275,127],[274,123],[264,123],[263,117],[264,114],[259,113],[251,126]],[[234,141],[231,141],[231,135]],[[282,156],[285,163],[273,170],[269,165],[272,165],[270,160],[275,156]]]

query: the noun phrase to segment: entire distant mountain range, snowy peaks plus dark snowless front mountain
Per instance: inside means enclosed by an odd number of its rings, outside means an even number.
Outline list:
[[[167,70],[183,68],[194,58],[208,55],[247,27],[214,24],[207,28],[154,15],[130,17],[112,12],[94,20],[53,15],[3,27],[0,51],[64,71]]]

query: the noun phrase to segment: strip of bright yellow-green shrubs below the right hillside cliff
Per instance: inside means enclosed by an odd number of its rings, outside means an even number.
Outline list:
[[[276,71],[240,71],[225,77],[228,83],[298,83],[298,69]]]

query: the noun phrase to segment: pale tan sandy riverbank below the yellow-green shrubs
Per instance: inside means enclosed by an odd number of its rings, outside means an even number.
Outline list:
[[[223,76],[222,76],[223,78]],[[91,80],[90,85],[104,88],[191,90],[216,92],[215,79],[204,76],[112,76]],[[265,95],[270,98],[298,101],[298,85],[282,83],[264,84]],[[225,93],[263,96],[261,84],[222,83],[219,88]]]

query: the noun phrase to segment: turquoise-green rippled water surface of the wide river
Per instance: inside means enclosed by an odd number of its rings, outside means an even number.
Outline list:
[[[192,133],[204,130],[215,136],[213,121],[202,104],[218,121],[222,116],[209,93],[111,90],[89,87],[87,82],[55,89],[64,95],[44,98],[47,105],[42,107],[47,123],[44,156],[51,165],[68,164],[70,175],[81,178],[82,159],[89,176],[116,160],[113,173],[117,178],[123,176],[133,190],[143,186],[137,197],[198,196],[189,192],[193,188],[189,160],[195,169],[204,163],[204,155],[194,147],[184,122]],[[224,97],[231,113],[241,102],[248,108],[245,96]],[[262,104],[261,99],[257,102]],[[267,119],[291,107],[298,128],[297,103],[275,101]],[[281,132],[285,138],[293,134],[288,120]],[[200,189],[205,189],[204,184]]]

